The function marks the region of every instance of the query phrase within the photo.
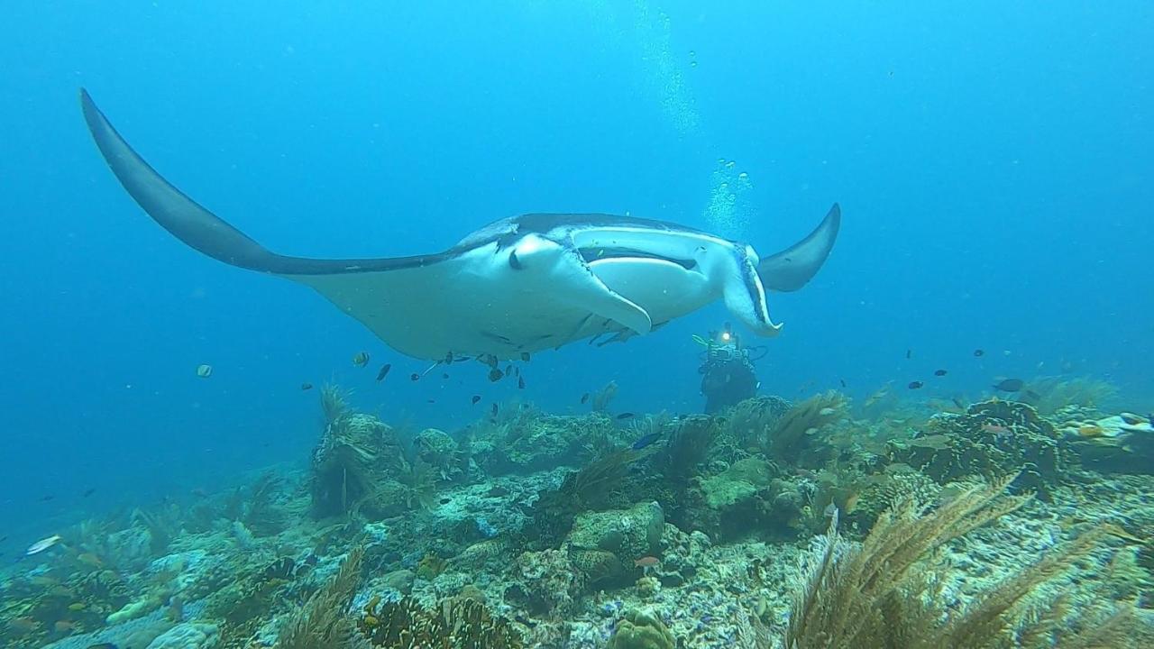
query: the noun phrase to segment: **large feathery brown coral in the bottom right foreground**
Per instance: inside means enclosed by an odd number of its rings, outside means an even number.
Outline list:
[[[950,606],[939,584],[920,569],[952,539],[1021,507],[1026,497],[1006,497],[1009,480],[972,486],[932,512],[905,500],[883,514],[860,546],[842,539],[837,517],[812,557],[797,591],[784,637],[790,649],[995,649],[1010,647],[1144,647],[1130,609],[1086,604],[1082,625],[1059,625],[1065,597],[1037,602],[1035,591],[1104,536],[1088,532],[1052,550],[1033,566],[999,583],[968,606]],[[1031,600],[1034,602],[1031,602]],[[1032,606],[1025,604],[1031,602]],[[1059,628],[1061,627],[1061,628]],[[1051,643],[1054,642],[1054,643]]]

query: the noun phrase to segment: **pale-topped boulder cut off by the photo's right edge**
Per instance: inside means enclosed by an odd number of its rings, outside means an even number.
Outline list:
[[[1154,473],[1154,424],[1122,412],[1102,419],[1071,420],[1062,428],[1085,467],[1115,473]]]

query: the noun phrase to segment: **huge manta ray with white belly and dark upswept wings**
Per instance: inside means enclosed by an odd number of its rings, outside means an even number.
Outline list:
[[[125,189],[165,230],[225,263],[300,282],[397,351],[422,359],[518,358],[601,335],[625,340],[724,299],[754,333],[780,329],[765,292],[795,291],[837,239],[837,204],[808,237],[759,260],[741,243],[604,214],[504,218],[435,254],[279,255],[160,177],[81,90],[84,119]]]

